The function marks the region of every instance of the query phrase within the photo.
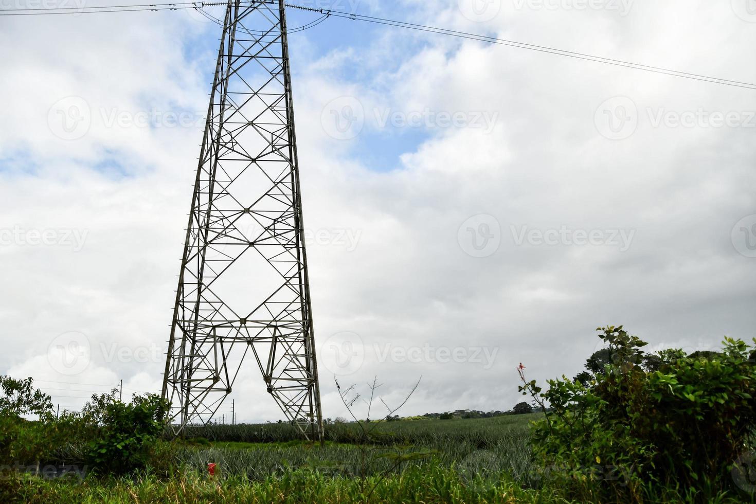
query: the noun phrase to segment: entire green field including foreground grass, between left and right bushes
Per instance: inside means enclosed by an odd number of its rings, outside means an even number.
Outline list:
[[[327,426],[325,446],[286,424],[191,428],[163,451],[169,466],[125,478],[26,477],[19,502],[553,502],[531,469],[539,415]],[[194,437],[194,438],[192,438]],[[233,440],[233,441],[232,441]],[[67,447],[71,450],[73,447]],[[65,450],[65,449],[64,449]],[[417,457],[417,458],[416,458]],[[167,464],[166,458],[172,459]],[[217,464],[214,477],[207,463]],[[522,489],[532,490],[522,490]]]

